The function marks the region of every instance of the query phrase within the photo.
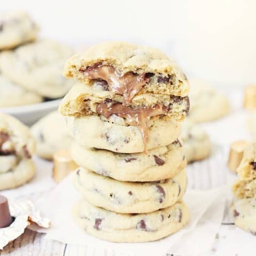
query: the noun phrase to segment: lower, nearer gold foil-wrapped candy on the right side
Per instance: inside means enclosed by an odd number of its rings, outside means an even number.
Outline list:
[[[236,169],[243,158],[244,149],[247,145],[248,142],[245,140],[235,141],[231,144],[228,157],[228,168],[231,172],[236,172]]]

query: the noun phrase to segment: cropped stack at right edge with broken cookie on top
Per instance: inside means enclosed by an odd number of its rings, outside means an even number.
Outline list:
[[[235,200],[231,205],[235,225],[256,235],[256,143],[251,143],[237,168],[233,185]]]

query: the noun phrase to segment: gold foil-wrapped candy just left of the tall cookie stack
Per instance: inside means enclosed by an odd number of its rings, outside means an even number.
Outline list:
[[[56,182],[60,182],[77,168],[78,165],[73,161],[69,150],[60,150],[53,155],[52,177]]]

